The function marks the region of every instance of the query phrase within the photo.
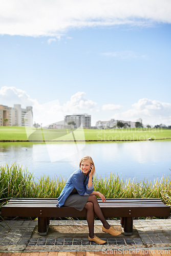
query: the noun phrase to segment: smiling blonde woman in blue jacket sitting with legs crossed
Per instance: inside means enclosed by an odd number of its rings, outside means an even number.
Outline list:
[[[77,169],[66,182],[58,199],[57,207],[67,206],[74,207],[77,210],[87,209],[87,222],[89,226],[89,241],[97,244],[104,244],[106,241],[101,240],[94,234],[94,214],[102,222],[102,231],[108,232],[113,236],[121,234],[113,226],[105,220],[96,196],[99,196],[102,202],[105,202],[105,197],[98,191],[93,191],[93,176],[95,174],[95,166],[93,160],[89,156],[85,156],[79,163]]]

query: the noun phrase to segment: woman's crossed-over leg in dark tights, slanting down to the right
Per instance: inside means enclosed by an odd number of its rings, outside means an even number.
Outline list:
[[[103,213],[102,213],[101,208],[100,208],[100,206],[99,206],[99,204],[98,204],[98,201],[97,201],[96,196],[95,196],[95,195],[90,195],[87,202],[92,202],[92,203],[93,203],[94,212],[95,212],[95,214],[97,215],[98,219],[102,222],[104,228],[109,229],[109,228],[110,228],[110,225],[109,225],[109,223],[105,220],[105,218],[104,218],[104,216],[103,216]],[[93,218],[94,218],[94,217],[93,217]]]

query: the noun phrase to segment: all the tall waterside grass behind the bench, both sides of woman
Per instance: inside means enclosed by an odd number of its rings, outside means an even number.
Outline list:
[[[0,180],[0,205],[11,197],[57,198],[66,183],[66,179],[57,176],[53,179],[43,176],[37,181],[27,169],[23,170],[15,164],[0,166]],[[106,198],[161,198],[165,204],[171,206],[169,177],[137,183],[135,179],[124,181],[115,174],[105,179],[95,176],[94,190],[100,191]]]

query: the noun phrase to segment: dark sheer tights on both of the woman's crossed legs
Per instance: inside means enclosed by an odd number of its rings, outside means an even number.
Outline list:
[[[97,198],[95,195],[89,196],[89,199],[84,206],[84,208],[87,209],[87,222],[89,226],[89,237],[94,237],[94,213],[98,217],[98,219],[102,222],[103,227],[108,229],[110,228],[110,225],[108,222],[106,222],[103,213],[100,209],[100,206],[98,204]]]

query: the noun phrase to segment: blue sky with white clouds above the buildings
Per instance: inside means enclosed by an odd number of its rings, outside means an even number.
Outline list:
[[[64,2],[0,3],[0,104],[33,105],[45,125],[73,113],[171,124],[171,3]]]

